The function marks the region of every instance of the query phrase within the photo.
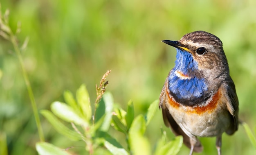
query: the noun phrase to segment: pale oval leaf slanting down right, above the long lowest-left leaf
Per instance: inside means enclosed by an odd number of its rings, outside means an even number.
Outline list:
[[[83,118],[81,118],[78,114],[76,114],[74,109],[72,109],[70,106],[68,106],[65,103],[56,101],[52,103],[51,109],[56,116],[65,120],[66,122],[74,122],[75,124],[88,127],[88,122],[85,122]]]

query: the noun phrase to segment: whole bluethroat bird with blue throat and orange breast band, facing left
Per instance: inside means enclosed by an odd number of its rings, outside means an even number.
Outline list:
[[[222,133],[238,130],[238,98],[222,42],[204,31],[162,42],[177,50],[159,98],[165,125],[183,136],[190,155],[203,149],[197,136],[216,137],[220,155]]]

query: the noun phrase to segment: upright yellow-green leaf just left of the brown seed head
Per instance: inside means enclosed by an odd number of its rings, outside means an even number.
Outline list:
[[[76,99],[81,107],[83,116],[85,116],[85,120],[89,122],[89,120],[92,118],[92,108],[90,105],[89,94],[85,85],[81,85],[76,91]]]

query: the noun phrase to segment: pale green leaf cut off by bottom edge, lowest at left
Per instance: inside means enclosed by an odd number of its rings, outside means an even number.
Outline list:
[[[37,142],[36,151],[39,155],[71,155],[70,153],[63,151],[63,149],[46,142]]]

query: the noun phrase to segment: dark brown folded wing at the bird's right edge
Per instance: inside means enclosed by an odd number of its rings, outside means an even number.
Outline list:
[[[229,111],[230,112],[230,117],[231,117],[231,124],[229,126],[229,128],[227,129],[226,133],[228,135],[232,135],[235,131],[238,130],[238,98],[236,95],[236,87],[235,84],[233,82],[233,80],[230,78],[229,81],[227,81],[227,91],[228,91],[228,96],[229,96],[229,100],[231,103],[231,108],[229,109],[234,109],[233,111]],[[230,106],[230,105],[227,105]]]

